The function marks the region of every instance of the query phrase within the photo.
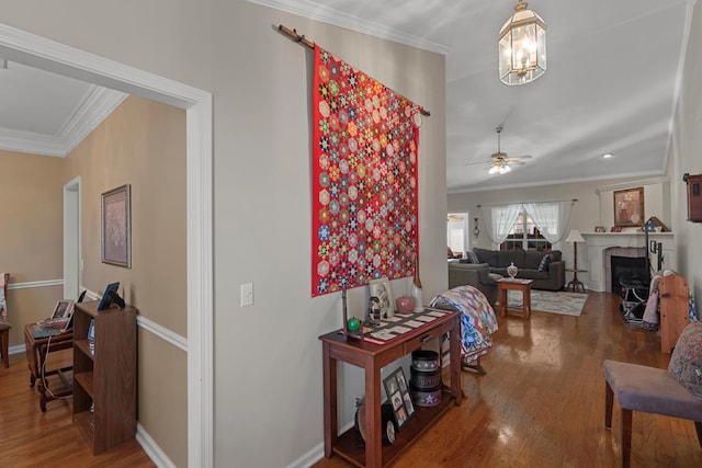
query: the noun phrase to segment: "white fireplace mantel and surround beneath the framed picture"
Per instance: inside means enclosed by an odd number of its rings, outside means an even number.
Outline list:
[[[611,247],[620,248],[643,248],[647,247],[646,235],[644,232],[582,232],[587,244],[587,261],[589,277],[587,286],[591,290],[607,290],[605,279],[605,254],[604,251]],[[648,242],[661,242],[664,263],[666,269],[676,269],[675,265],[675,238],[672,232],[649,232]],[[656,267],[658,256],[648,252],[650,262]]]

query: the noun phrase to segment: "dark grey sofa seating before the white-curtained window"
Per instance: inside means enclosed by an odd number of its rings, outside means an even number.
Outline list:
[[[546,260],[544,258],[548,255]],[[471,285],[478,288],[490,304],[497,299],[497,279],[507,277],[514,263],[517,277],[533,279],[532,288],[559,290],[566,284],[566,265],[559,250],[488,250],[475,248],[467,259],[449,261],[449,287]]]

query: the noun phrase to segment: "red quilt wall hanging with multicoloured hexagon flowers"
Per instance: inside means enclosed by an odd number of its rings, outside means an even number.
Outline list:
[[[313,296],[414,274],[419,112],[315,46]]]

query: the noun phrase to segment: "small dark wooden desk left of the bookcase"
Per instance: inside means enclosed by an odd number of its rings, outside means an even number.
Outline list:
[[[60,397],[67,397],[72,393],[72,376],[68,376],[66,373],[72,369],[72,359],[70,366],[60,368],[45,369],[44,379],[42,379],[42,367],[46,362],[47,347],[48,353],[61,350],[70,350],[73,347],[73,334],[69,330],[66,333],[52,336],[50,342],[48,338],[35,339],[32,336],[32,328],[34,323],[24,326],[24,351],[26,353],[26,363],[30,367],[30,387],[36,385],[36,390],[39,392],[39,408],[42,412],[46,412],[46,402],[53,401]],[[46,393],[46,385],[52,383],[48,380],[49,376],[57,376],[56,386],[52,386],[50,393]],[[53,393],[53,396],[52,396]]]

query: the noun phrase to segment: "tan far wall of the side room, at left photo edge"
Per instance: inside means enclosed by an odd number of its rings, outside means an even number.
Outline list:
[[[24,343],[24,323],[49,316],[64,295],[60,284],[15,288],[64,277],[63,160],[0,151],[0,272],[10,273],[8,320],[14,346]]]

